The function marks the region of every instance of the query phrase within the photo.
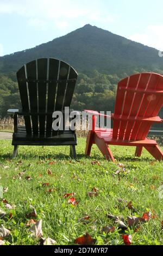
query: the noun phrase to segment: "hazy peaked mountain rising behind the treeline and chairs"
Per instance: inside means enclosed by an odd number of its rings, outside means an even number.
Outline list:
[[[85,25],[46,44],[0,57],[0,72],[15,72],[24,63],[42,57],[62,59],[85,74],[92,70],[105,74],[137,68],[163,70],[163,58],[158,56],[158,50],[96,26]]]

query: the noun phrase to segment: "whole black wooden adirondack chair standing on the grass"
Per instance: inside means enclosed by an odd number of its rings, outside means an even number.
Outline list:
[[[70,145],[70,155],[76,157],[75,131],[52,129],[54,111],[70,107],[78,74],[67,63],[54,58],[41,58],[17,71],[22,109],[9,109],[14,114],[13,157],[18,145]],[[24,126],[17,124],[18,115]]]

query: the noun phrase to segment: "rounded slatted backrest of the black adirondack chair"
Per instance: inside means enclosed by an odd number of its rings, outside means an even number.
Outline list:
[[[33,60],[17,71],[28,135],[56,133],[52,130],[52,113],[70,107],[77,77],[72,66],[54,58]]]

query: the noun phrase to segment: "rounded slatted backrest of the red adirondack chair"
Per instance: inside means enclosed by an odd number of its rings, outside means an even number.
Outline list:
[[[117,118],[112,137],[127,141],[145,139],[152,123],[137,119],[155,117],[162,104],[163,76],[147,72],[124,78],[117,87],[114,113]]]

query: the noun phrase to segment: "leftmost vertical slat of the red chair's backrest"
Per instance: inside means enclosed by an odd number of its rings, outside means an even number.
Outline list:
[[[117,95],[116,95],[116,103],[115,103],[115,112],[114,114],[116,115],[121,115],[122,114],[122,108],[123,108],[123,102],[125,99],[125,91],[122,91],[120,88],[121,87],[127,87],[128,85],[128,80],[129,78],[124,78],[118,83],[117,87]],[[118,138],[118,131],[120,127],[121,122],[118,120],[113,121],[113,133],[112,133],[112,138],[117,139]]]

